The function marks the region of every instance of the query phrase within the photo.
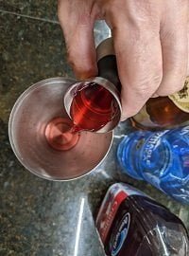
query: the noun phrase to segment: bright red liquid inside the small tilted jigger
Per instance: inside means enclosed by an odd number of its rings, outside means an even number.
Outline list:
[[[115,116],[117,103],[103,86],[93,83],[79,91],[72,101],[71,118],[74,131],[97,131]]]

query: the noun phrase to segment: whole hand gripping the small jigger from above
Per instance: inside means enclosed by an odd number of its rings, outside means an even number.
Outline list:
[[[79,79],[97,75],[94,21],[111,27],[122,120],[150,97],[179,91],[189,75],[189,0],[60,0],[58,15]]]

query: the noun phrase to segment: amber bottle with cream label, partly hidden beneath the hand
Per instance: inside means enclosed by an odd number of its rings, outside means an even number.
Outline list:
[[[134,127],[146,130],[173,128],[189,123],[189,77],[180,92],[168,97],[151,98],[131,118]]]

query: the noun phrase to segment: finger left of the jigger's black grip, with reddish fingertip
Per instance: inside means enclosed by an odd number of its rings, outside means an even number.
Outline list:
[[[58,9],[68,62],[78,79],[87,79],[97,74],[94,17],[89,14],[88,6],[84,3],[85,1],[59,1]]]

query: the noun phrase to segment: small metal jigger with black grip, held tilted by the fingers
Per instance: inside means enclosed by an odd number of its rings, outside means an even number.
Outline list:
[[[72,84],[66,91],[63,99],[65,110],[70,118],[71,105],[77,95],[77,91],[81,91],[87,86],[93,84],[104,87],[110,94],[112,94],[114,104],[116,105],[116,115],[106,123],[103,127],[95,131],[96,133],[107,133],[112,131],[121,119],[122,106],[120,101],[121,83],[119,81],[115,53],[112,43],[112,38],[103,40],[96,47],[96,57],[98,66],[98,77],[94,77],[89,81],[81,81]]]

